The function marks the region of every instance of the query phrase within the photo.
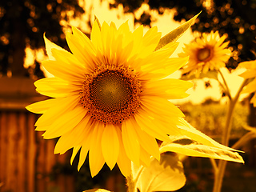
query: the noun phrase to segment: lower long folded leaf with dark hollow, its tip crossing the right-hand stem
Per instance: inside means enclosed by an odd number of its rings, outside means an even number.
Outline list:
[[[193,141],[185,137],[173,139],[172,142],[163,142],[160,146],[160,153],[168,151],[178,154],[185,154],[187,156],[202,157],[202,158],[217,158],[231,162],[242,162],[242,157],[234,151],[226,150],[217,146],[206,146],[199,142]]]

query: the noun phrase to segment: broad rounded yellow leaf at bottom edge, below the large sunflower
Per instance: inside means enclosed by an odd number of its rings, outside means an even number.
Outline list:
[[[149,167],[142,167],[137,187],[141,192],[174,191],[185,185],[182,162],[175,154],[161,154],[160,162],[151,158]]]

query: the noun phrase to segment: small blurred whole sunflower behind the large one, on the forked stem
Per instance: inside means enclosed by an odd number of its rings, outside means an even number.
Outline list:
[[[210,34],[203,33],[202,38],[196,38],[194,42],[185,44],[183,53],[178,54],[179,57],[190,56],[189,62],[184,66],[183,74],[195,74],[198,77],[201,73],[208,70],[218,70],[225,66],[230,58],[231,51],[226,49],[229,42],[224,42],[226,37],[221,38],[218,31]]]

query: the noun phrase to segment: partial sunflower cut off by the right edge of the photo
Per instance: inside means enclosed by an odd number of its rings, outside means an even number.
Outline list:
[[[242,78],[250,79],[254,78],[243,90],[242,94],[251,94],[256,92],[256,60],[250,62],[241,62],[239,66],[246,68],[246,71],[240,76]],[[250,99],[250,102],[256,106],[256,95]]]

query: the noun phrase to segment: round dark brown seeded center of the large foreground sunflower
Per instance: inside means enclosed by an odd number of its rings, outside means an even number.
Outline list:
[[[132,70],[105,69],[87,74],[80,102],[94,120],[121,124],[140,106],[141,83]]]

